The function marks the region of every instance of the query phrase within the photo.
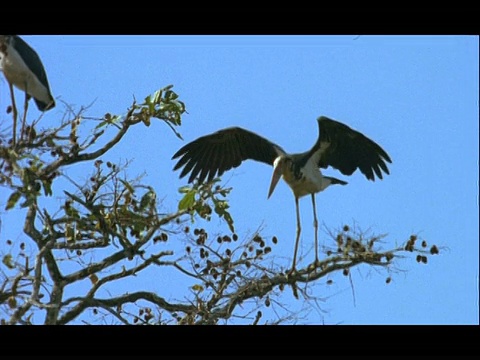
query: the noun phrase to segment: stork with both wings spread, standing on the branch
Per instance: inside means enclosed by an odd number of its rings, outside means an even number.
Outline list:
[[[272,165],[273,176],[268,198],[281,177],[290,186],[295,196],[297,234],[293,265],[295,271],[301,225],[298,199],[310,194],[312,197],[315,227],[315,264],[318,263],[318,221],[315,194],[330,185],[346,185],[347,182],[322,175],[320,168],[332,166],[344,175],[352,175],[357,169],[368,180],[375,175],[382,179],[389,174],[386,162],[392,160],[374,141],[345,124],[325,116],[318,118],[319,137],[313,147],[303,153],[288,154],[277,144],[240,127],[231,127],[202,136],[178,150],[172,159],[180,158],[174,167],[183,167],[180,178],[190,173],[188,182],[211,181],[225,171],[252,159]]]

